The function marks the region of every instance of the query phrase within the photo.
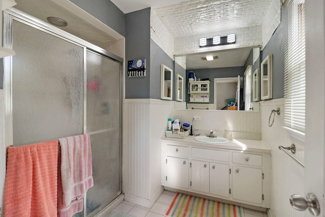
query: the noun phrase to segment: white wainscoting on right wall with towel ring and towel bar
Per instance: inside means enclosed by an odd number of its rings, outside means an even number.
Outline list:
[[[271,165],[271,208],[269,216],[303,217],[304,212],[290,206],[289,197],[304,195],[304,168],[278,148],[279,145],[296,145],[295,157],[304,162],[304,146],[287,136],[284,123],[284,99],[262,102],[262,140],[272,148]],[[280,108],[272,127],[268,126],[272,109]],[[271,118],[272,122],[273,116]],[[272,215],[271,215],[271,213]]]

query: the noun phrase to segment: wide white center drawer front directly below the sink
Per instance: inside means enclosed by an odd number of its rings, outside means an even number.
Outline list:
[[[229,162],[229,151],[192,148],[192,158]]]

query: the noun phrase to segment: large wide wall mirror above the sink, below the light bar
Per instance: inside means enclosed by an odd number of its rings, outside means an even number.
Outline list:
[[[244,98],[245,94],[245,82],[243,82],[244,73],[248,66],[251,66],[250,76],[247,76],[248,84],[251,84],[247,93],[250,94],[250,101],[252,100],[252,72],[259,69],[261,61],[259,60],[259,47],[248,47],[248,48],[239,48],[239,49],[229,49],[229,50],[219,50],[212,52],[204,53],[191,53],[184,56],[175,56],[175,73],[181,74],[184,77],[184,99],[183,102],[187,103],[187,108],[191,109],[205,109],[205,110],[224,110],[227,109],[227,103],[233,102],[236,98],[237,92],[237,78],[240,76],[241,80],[241,91],[240,97]],[[213,60],[208,61],[206,56],[212,55]],[[209,80],[209,101],[207,102],[191,102],[190,101],[190,92],[188,89],[188,78],[189,72],[194,72],[194,77],[202,82],[202,80]],[[184,75],[185,73],[185,75]],[[235,78],[235,81],[232,81],[230,78]],[[215,79],[226,79],[215,80]],[[259,80],[258,80],[259,82]],[[220,89],[221,88],[221,89]],[[232,88],[232,90],[230,90]],[[177,91],[175,87],[175,91]],[[217,92],[216,92],[217,91]],[[220,96],[219,94],[233,93],[234,96]],[[248,97],[248,96],[247,96]],[[222,102],[220,102],[220,100]],[[226,101],[228,100],[228,101]],[[244,100],[242,99],[241,104],[244,105]],[[251,106],[246,106],[251,108]],[[254,106],[256,107],[256,106]],[[176,109],[176,108],[175,108]],[[243,108],[241,108],[242,110]],[[247,109],[247,110],[248,110]],[[246,110],[246,109],[245,109]],[[250,110],[251,111],[251,110]],[[254,109],[254,111],[257,111]]]

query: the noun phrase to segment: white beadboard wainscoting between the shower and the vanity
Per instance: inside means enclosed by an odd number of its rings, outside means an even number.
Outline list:
[[[123,110],[124,200],[151,207],[164,190],[160,138],[165,136],[174,102],[126,99]]]

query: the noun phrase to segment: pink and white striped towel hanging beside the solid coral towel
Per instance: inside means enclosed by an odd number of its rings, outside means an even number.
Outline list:
[[[90,136],[62,138],[59,143],[61,183],[58,183],[58,215],[71,216],[70,213],[82,210],[83,195],[93,187]]]

